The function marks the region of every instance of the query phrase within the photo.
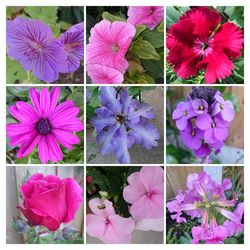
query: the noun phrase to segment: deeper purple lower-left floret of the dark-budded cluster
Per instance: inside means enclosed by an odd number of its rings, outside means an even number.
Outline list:
[[[183,143],[194,150],[197,150],[201,147],[203,139],[203,131],[192,126],[192,123],[189,121],[187,127],[180,131],[181,138]]]

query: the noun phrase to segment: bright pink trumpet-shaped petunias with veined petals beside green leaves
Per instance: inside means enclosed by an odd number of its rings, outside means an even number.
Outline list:
[[[136,33],[135,26],[155,28],[163,19],[163,7],[134,6],[128,9],[128,20],[102,20],[90,31],[87,50],[87,72],[93,83],[120,84],[129,66],[125,55]]]

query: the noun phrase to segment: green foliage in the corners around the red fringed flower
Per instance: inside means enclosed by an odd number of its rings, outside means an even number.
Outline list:
[[[213,7],[211,7],[213,8]],[[188,11],[190,7],[167,6],[166,9],[166,27],[167,29],[172,24],[176,23],[180,16]],[[233,22],[241,29],[244,29],[244,7],[243,6],[218,6],[216,10],[222,16],[222,23]],[[242,56],[233,60],[234,69],[232,74],[225,79],[218,80],[219,84],[243,84],[244,83],[244,49]],[[204,70],[200,70],[196,76],[188,79],[182,79],[176,75],[172,65],[166,62],[166,81],[173,84],[205,84]]]

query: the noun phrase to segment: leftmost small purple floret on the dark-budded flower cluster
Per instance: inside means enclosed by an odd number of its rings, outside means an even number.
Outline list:
[[[187,121],[195,116],[190,102],[179,102],[173,112],[172,118],[176,120],[176,126],[179,130],[184,130]]]

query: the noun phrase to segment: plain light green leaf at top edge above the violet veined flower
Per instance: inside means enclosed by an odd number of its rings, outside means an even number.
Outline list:
[[[56,6],[28,6],[25,12],[32,19],[39,19],[48,24],[54,24],[57,20]]]

